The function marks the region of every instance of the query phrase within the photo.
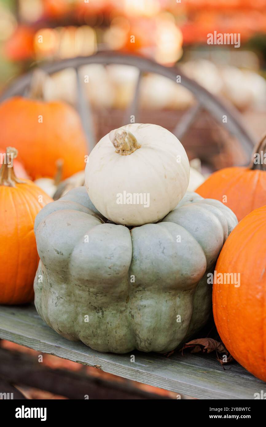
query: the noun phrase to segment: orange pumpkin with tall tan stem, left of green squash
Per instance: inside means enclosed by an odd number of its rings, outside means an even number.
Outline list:
[[[11,147],[6,153],[17,155]],[[37,213],[53,202],[32,181],[18,179],[4,162],[0,170],[0,304],[32,301],[38,253],[33,231]]]

